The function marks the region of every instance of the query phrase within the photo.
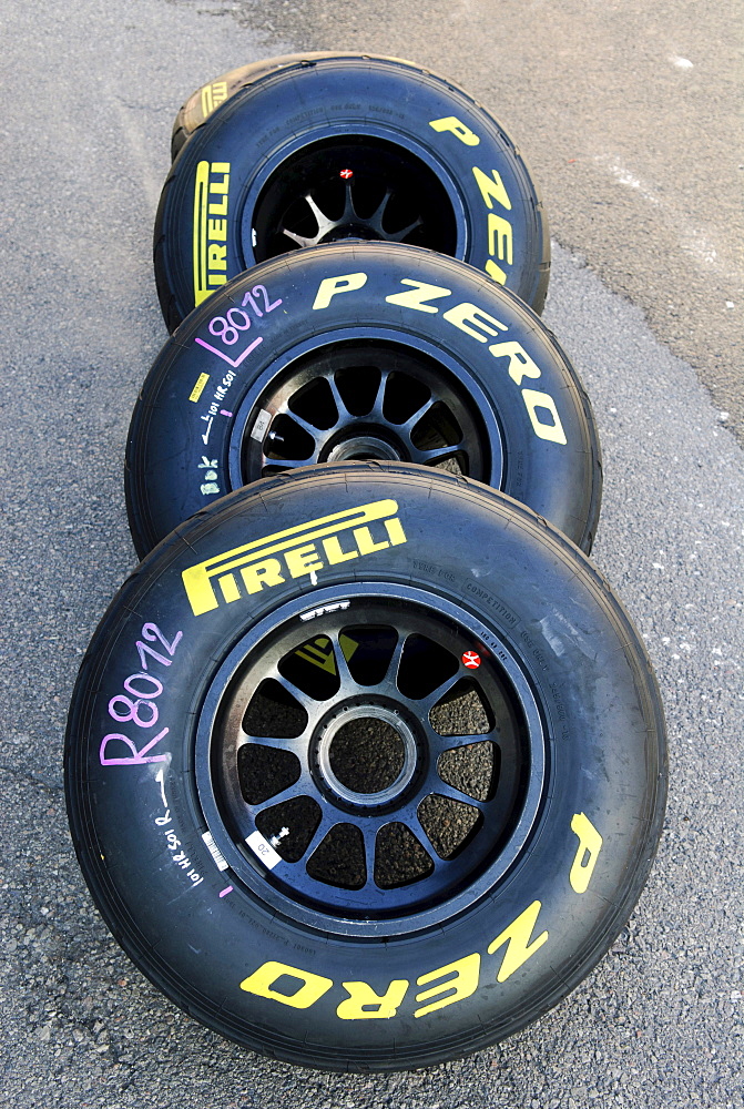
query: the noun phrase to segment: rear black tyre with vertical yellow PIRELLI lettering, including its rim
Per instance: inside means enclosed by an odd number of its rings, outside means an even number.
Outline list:
[[[544,303],[542,206],[496,120],[408,62],[332,55],[264,73],[176,157],[154,235],[169,330],[257,262],[350,237],[453,255]]]

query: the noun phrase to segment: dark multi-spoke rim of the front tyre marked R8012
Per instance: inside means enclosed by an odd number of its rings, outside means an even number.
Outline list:
[[[519,857],[542,793],[516,660],[497,661],[465,610],[386,590],[325,590],[312,622],[298,602],[268,618],[221,668],[198,728],[200,798],[233,881],[343,934],[467,907]]]

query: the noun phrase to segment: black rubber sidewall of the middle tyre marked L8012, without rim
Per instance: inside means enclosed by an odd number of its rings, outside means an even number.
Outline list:
[[[355,283],[358,287],[344,291]],[[417,283],[436,286],[440,295],[418,307],[389,299]],[[221,343],[214,332],[224,328],[232,308],[246,317],[242,305],[257,287],[265,289],[265,296],[256,294],[264,307],[275,307],[261,318],[248,311],[249,326],[238,340]],[[503,330],[453,324],[447,314],[462,304],[475,305]],[[233,313],[233,318],[238,317]],[[231,444],[234,452],[244,427],[261,439],[266,425],[252,398],[268,389],[278,368],[309,346],[319,349],[354,334],[440,358],[445,374],[466,393],[470,387],[483,438],[502,446],[503,460],[495,451],[482,479],[590,549],[601,495],[599,441],[589,400],[554,337],[516,296],[471,267],[417,247],[369,243],[328,245],[264,263],[210,297],[165,345],[128,441],[128,509],[141,557],[182,520],[231,491]],[[519,344],[531,359],[531,376],[519,379],[518,364],[496,357],[495,336]],[[552,415],[528,403],[536,396],[554,406],[560,434],[551,430]],[[205,481],[207,472],[213,477]]]

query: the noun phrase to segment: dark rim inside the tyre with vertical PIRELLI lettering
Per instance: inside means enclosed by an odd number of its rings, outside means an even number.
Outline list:
[[[285,152],[252,208],[255,261],[344,238],[455,254],[455,208],[417,152],[379,135],[334,135]]]

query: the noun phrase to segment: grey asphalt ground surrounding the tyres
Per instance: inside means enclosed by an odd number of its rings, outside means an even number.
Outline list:
[[[742,11],[645,8],[3,8],[6,1103],[742,1106],[744,468],[732,433],[744,396],[734,353]],[[556,236],[546,319],[584,380],[604,451],[594,558],[645,637],[671,752],[650,883],[597,970],[499,1046],[371,1077],[259,1058],[161,997],[92,906],[61,776],[80,657],[135,563],[123,448],[166,337],[150,252],[173,114],[234,65],[340,47],[451,75],[518,139],[542,186]]]

